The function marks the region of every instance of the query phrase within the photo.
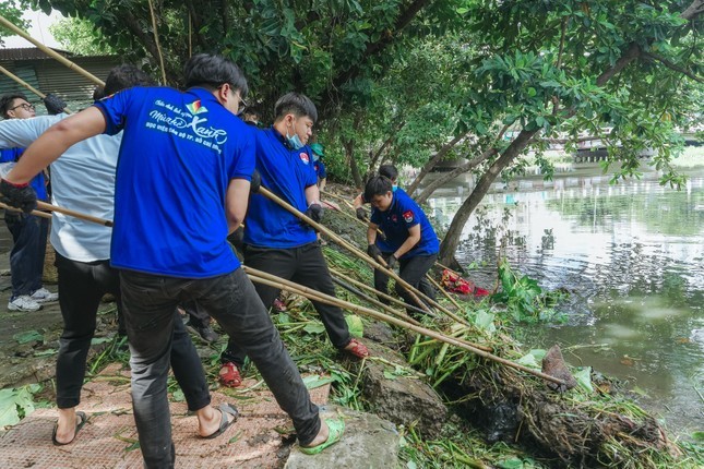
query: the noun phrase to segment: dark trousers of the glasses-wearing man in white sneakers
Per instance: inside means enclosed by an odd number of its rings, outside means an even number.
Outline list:
[[[5,211],[8,225],[14,245],[10,252],[10,273],[12,274],[12,297],[32,294],[41,288],[44,256],[47,249],[49,220],[19,212]]]

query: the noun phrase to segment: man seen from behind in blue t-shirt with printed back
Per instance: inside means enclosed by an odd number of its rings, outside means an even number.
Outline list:
[[[186,63],[184,83],[186,92],[127,89],[62,120],[26,149],[0,181],[0,193],[11,205],[32,209],[36,202],[23,183],[40,168],[80,141],[123,131],[111,263],[120,269],[132,405],[145,466],[174,467],[166,385],[174,323],[180,321],[176,306],[188,299],[252,358],[291,417],[303,449],[319,450],[339,440],[341,425],[321,422],[226,240],[244,217],[254,170],[253,133],[235,117],[247,81],[232,62],[201,53]],[[223,434],[237,417],[231,406],[219,410],[212,412],[216,424],[206,437]]]

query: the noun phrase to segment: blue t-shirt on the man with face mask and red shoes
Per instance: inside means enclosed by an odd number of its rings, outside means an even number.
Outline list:
[[[256,170],[262,187],[300,212],[308,209],[306,188],[318,184],[312,151],[293,149],[273,128],[256,132]],[[261,194],[252,194],[244,219],[244,243],[260,248],[297,248],[315,241],[315,231]]]

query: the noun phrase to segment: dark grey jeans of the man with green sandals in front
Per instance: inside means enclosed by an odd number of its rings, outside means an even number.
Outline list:
[[[120,280],[132,353],[132,407],[147,468],[174,467],[166,381],[171,330],[180,321],[176,306],[189,299],[198,301],[250,356],[294,421],[300,443],[313,441],[321,424],[318,407],[241,268],[202,279],[121,270]]]

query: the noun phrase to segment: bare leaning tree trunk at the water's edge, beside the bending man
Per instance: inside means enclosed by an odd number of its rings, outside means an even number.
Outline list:
[[[464,201],[455,216],[452,218],[445,239],[440,245],[439,258],[441,263],[450,262],[453,258],[457,244],[460,244],[462,229],[469,219],[469,215],[472,215],[477,205],[479,205],[479,202],[481,202],[487,192],[489,192],[489,188],[491,188],[491,184],[501,171],[503,171],[521,154],[521,152],[523,152],[523,149],[528,145],[528,142],[530,142],[530,139],[533,139],[533,135],[537,132],[537,130],[522,130],[505,152],[503,152],[493,165],[491,165],[491,167],[481,175],[481,178],[479,178],[479,181],[474,188],[474,191],[472,191],[472,194],[469,194],[469,197]]]

